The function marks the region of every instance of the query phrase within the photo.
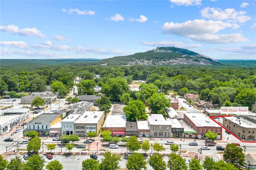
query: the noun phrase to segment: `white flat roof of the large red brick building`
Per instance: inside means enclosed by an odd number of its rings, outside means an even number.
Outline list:
[[[197,127],[221,127],[204,113],[184,113]]]

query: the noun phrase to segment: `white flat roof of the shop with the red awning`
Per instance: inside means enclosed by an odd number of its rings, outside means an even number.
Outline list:
[[[126,127],[126,116],[108,115],[103,127]]]

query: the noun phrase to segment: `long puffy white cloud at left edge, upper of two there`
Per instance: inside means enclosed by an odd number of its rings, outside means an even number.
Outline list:
[[[10,34],[19,34],[21,36],[27,37],[39,37],[44,38],[45,36],[41,33],[41,31],[37,30],[36,28],[23,28],[19,30],[18,26],[15,25],[8,25],[8,26],[0,26],[0,30],[3,32],[8,32]]]

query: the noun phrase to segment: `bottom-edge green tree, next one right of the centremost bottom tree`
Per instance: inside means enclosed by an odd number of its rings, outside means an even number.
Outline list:
[[[154,170],[166,170],[166,163],[161,154],[154,154],[148,159],[148,164]]]

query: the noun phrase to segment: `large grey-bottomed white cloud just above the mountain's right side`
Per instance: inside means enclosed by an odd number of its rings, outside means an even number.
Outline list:
[[[216,33],[226,28],[231,28],[233,25],[222,21],[213,20],[189,20],[183,23],[166,22],[162,26],[162,31],[169,34],[179,36],[194,36],[202,34]]]

